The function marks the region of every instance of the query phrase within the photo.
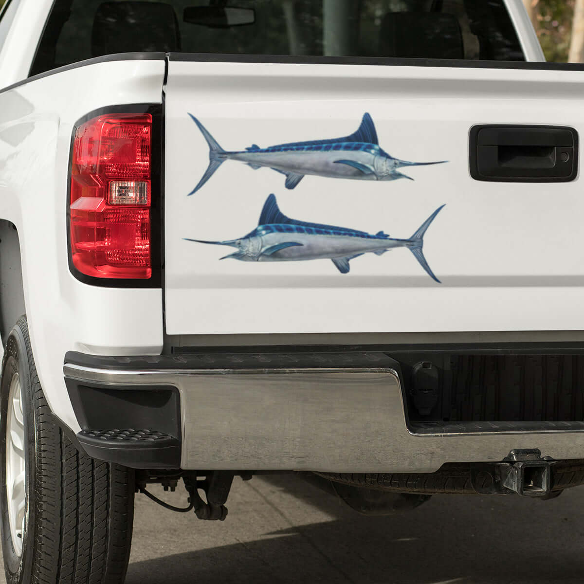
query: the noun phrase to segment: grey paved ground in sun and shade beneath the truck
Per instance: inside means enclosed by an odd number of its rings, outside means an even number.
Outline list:
[[[182,486],[152,490],[185,502]],[[547,502],[441,495],[362,517],[293,476],[236,478],[228,507],[206,523],[138,495],[127,584],[584,582],[584,487]]]

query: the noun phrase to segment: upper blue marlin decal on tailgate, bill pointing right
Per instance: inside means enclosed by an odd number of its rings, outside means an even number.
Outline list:
[[[238,160],[254,170],[265,166],[286,175],[286,188],[294,189],[304,175],[328,176],[338,179],[396,180],[410,179],[398,171],[403,166],[426,166],[439,162],[408,162],[394,158],[382,150],[371,116],[363,116],[359,130],[344,138],[291,142],[268,148],[253,144],[246,150],[223,150],[206,127],[189,114],[209,145],[210,163],[194,194],[213,176],[226,160]]]

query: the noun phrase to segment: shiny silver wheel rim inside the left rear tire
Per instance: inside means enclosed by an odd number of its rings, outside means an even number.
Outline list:
[[[20,378],[15,373],[8,395],[6,420],[6,496],[12,545],[16,555],[22,554],[22,538],[26,524],[25,416],[22,411]]]

